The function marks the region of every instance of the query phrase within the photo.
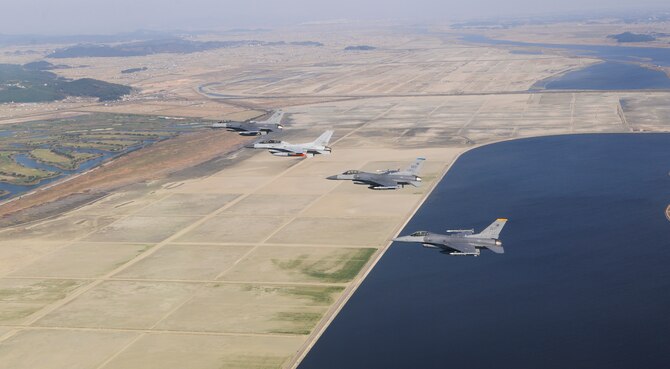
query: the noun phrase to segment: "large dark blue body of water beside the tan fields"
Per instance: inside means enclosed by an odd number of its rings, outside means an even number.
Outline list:
[[[505,254],[391,245],[300,369],[667,368],[669,172],[670,134],[464,154],[401,234],[506,217]]]

